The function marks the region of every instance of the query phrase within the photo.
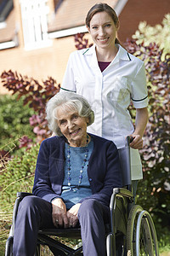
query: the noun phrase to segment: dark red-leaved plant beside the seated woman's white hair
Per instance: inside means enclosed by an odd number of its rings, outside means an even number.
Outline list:
[[[59,84],[51,77],[40,84],[35,79],[30,79],[27,76],[22,76],[17,72],[3,72],[1,75],[3,86],[13,95],[17,94],[18,100],[20,97],[24,98],[24,105],[29,104],[36,112],[30,118],[30,125],[34,127],[34,132],[37,135],[37,141],[42,141],[43,138],[48,137],[47,120],[45,119],[45,106],[48,100],[59,92]],[[29,138],[23,137],[20,141],[20,148],[29,145]]]

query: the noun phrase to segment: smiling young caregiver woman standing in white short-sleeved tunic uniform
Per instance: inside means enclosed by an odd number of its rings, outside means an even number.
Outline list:
[[[122,48],[116,38],[119,20],[106,3],[95,4],[88,11],[86,26],[94,46],[71,53],[61,90],[77,92],[88,99],[95,121],[88,128],[100,137],[125,145],[128,135],[131,146],[132,179],[142,179],[139,148],[148,120],[148,95],[144,62]],[[127,110],[130,102],[136,108],[135,126]],[[135,194],[136,182],[133,182]]]

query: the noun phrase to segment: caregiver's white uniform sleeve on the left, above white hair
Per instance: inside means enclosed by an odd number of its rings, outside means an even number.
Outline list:
[[[77,92],[74,72],[73,72],[73,61],[74,61],[74,55],[71,54],[67,62],[64,79],[61,84],[61,91]]]

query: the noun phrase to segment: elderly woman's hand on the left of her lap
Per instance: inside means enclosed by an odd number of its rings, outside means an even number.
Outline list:
[[[54,226],[58,227],[69,227],[69,219],[67,218],[66,214],[66,207],[64,201],[60,198],[55,198],[54,201],[52,201],[52,218]]]

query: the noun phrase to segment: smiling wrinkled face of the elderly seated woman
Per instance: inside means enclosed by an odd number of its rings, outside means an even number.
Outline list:
[[[71,147],[84,147],[87,143],[88,119],[74,110],[64,111],[62,108],[57,109],[56,117],[59,129]]]

